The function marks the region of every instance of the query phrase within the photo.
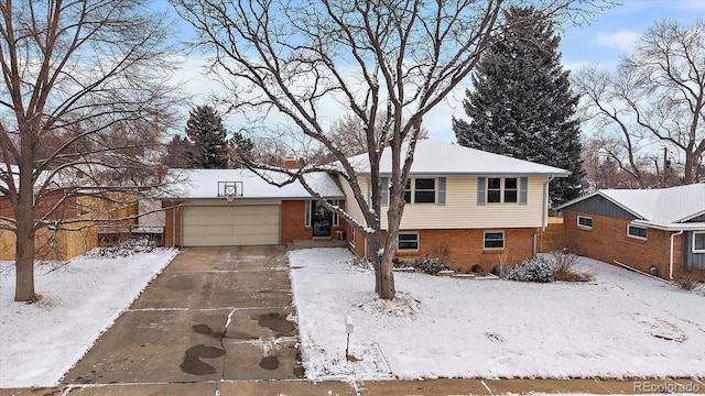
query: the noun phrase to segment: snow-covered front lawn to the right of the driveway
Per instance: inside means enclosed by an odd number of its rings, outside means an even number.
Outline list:
[[[398,299],[344,249],[289,253],[312,380],[705,377],[705,296],[594,260],[587,284],[397,273]],[[352,319],[348,362],[346,316]]]

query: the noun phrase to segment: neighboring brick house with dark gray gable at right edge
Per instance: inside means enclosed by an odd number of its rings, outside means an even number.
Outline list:
[[[571,251],[665,279],[705,270],[705,184],[605,189],[558,207]]]

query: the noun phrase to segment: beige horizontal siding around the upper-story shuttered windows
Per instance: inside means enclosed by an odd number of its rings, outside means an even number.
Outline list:
[[[528,202],[477,205],[477,177],[447,177],[446,205],[406,205],[402,230],[467,228],[534,228],[542,226],[543,184],[546,177],[530,177]],[[382,212],[384,208],[382,208]],[[382,228],[387,217],[382,216]]]

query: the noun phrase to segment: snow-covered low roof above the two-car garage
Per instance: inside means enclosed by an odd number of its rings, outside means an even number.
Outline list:
[[[288,179],[280,173],[262,174],[278,183]],[[315,191],[326,198],[345,197],[335,180],[326,173],[307,174],[305,178]],[[170,198],[217,198],[218,182],[241,182],[242,196],[238,198],[311,198],[311,194],[299,182],[278,187],[250,169],[171,169],[167,179],[176,180],[165,194]]]

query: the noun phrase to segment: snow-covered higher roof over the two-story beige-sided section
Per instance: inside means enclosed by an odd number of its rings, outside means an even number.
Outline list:
[[[404,147],[405,148],[405,147]],[[404,150],[405,152],[405,150]],[[360,175],[369,175],[370,166],[367,154],[349,158]],[[404,161],[402,155],[401,161]],[[382,153],[380,173],[391,174],[391,150]],[[517,160],[506,155],[484,152],[451,143],[433,140],[421,140],[416,143],[412,175],[476,175],[476,176],[556,176],[566,177],[571,172],[553,166],[541,165],[529,161]]]

